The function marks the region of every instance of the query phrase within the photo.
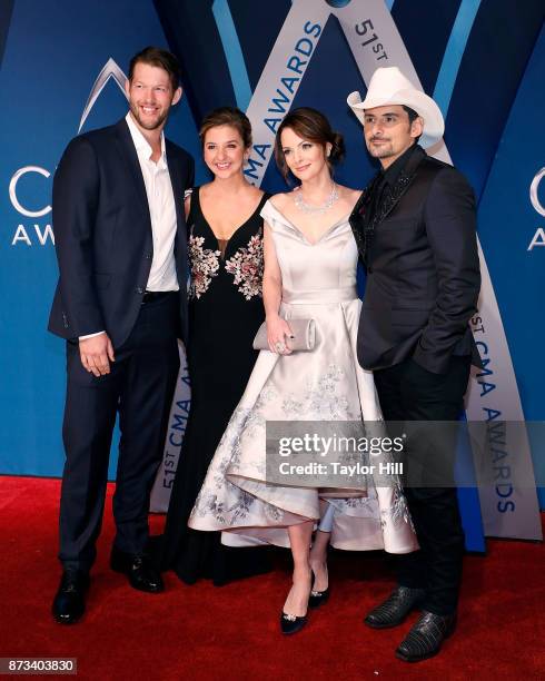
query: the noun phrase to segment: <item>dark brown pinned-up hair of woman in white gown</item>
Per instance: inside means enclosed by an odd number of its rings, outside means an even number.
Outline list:
[[[287,179],[289,176],[289,168],[284,156],[281,146],[281,134],[283,130],[289,128],[294,130],[303,139],[321,145],[324,151],[326,145],[331,145],[331,151],[329,157],[326,159],[329,167],[338,164],[345,156],[345,141],[343,135],[335,132],[327,118],[317,109],[310,107],[300,107],[290,111],[285,119],[281,121],[275,138],[275,159],[278,169]]]

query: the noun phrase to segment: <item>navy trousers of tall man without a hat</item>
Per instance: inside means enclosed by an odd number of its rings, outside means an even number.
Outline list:
[[[162,458],[179,369],[178,315],[178,294],[143,304],[106,376],[89,374],[81,365],[78,343],[67,343],[59,553],[65,569],[88,571],[95,562],[117,413],[121,440],[113,496],[115,544],[131,554],[145,551],[149,496]]]

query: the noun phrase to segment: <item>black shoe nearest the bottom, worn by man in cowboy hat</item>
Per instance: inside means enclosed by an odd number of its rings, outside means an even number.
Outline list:
[[[396,658],[405,662],[419,662],[436,655],[443,641],[456,628],[456,614],[436,615],[433,612],[423,612],[420,619],[396,650]]]

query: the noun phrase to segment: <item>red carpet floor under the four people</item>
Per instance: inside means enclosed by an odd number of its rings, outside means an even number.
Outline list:
[[[287,555],[275,573],[217,589],[133,591],[108,569],[110,496],[85,620],[56,624],[50,603],[60,575],[59,481],[0,477],[0,657],[70,657],[82,679],[537,679],[545,678],[545,547],[489,541],[467,556],[458,630],[437,658],[409,665],[394,650],[416,618],[373,631],[364,613],[389,592],[383,554],[336,552],[333,593],[294,638],[278,631],[289,584]],[[111,492],[111,491],[110,491]],[[159,532],[161,517],[152,519]]]

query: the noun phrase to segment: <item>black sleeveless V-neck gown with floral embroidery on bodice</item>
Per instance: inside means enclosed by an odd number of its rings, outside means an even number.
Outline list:
[[[264,547],[232,549],[219,532],[187,526],[208,465],[235,411],[258,353],[254,336],[265,318],[262,280],[264,195],[228,241],[218,241],[202,215],[199,189],[188,216],[191,283],[187,358],[191,409],[160,546],[164,569],[186,583],[217,585],[269,569]]]

